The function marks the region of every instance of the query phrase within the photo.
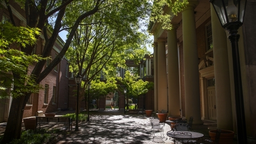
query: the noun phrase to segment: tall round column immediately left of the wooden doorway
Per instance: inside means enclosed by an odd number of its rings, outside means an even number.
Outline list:
[[[194,9],[199,2],[189,1],[182,10],[183,59],[186,118],[194,117],[194,125],[202,125],[198,54]]]

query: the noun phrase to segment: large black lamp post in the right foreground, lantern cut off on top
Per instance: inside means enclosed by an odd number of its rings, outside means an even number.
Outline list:
[[[246,0],[210,0],[216,11],[221,26],[228,33],[231,43],[233,72],[235,83],[235,112],[238,144],[247,144],[245,108],[241,80],[240,59],[237,34],[238,28],[243,25]]]

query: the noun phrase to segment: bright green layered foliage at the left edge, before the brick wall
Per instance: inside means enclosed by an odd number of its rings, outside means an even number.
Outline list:
[[[27,75],[27,69],[30,64],[43,58],[38,55],[27,55],[18,48],[36,43],[35,36],[39,35],[39,30],[14,27],[8,22],[0,23],[0,29],[0,98],[16,98],[24,96],[26,92],[38,92],[39,85],[33,75]],[[16,74],[20,75],[20,79],[13,79],[13,75]],[[5,91],[7,89],[10,91]]]

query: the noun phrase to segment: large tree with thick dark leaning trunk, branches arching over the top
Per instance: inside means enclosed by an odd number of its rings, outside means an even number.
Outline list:
[[[121,14],[123,17],[119,19],[119,21],[126,21],[128,19],[132,19],[133,17],[139,17],[140,20],[145,20],[145,12],[148,13],[151,10],[152,3],[149,0],[14,0],[18,2],[19,5],[23,8],[26,15],[26,24],[27,27],[38,28],[43,32],[43,36],[45,39],[45,45],[43,48],[42,57],[47,58],[50,56],[50,53],[53,49],[53,45],[56,42],[58,34],[62,30],[69,29],[69,36],[62,48],[61,52],[56,56],[55,59],[48,65],[46,69],[44,68],[44,64],[46,63],[46,59],[37,62],[36,66],[32,70],[29,75],[34,75],[34,80],[37,84],[39,84],[51,71],[54,67],[59,64],[61,59],[64,57],[64,54],[68,50],[70,43],[77,32],[77,28],[81,25],[81,21],[86,17],[95,15],[97,13],[102,13],[105,17],[109,17],[109,21],[116,21],[115,16],[120,17]],[[157,0],[167,1],[171,3],[170,0]],[[12,0],[1,0],[4,2],[7,10],[9,12],[10,20],[13,26],[19,27],[16,24],[13,16],[13,7],[11,4],[14,4]],[[67,8],[69,5],[74,5],[73,9]],[[161,9],[160,7],[155,7],[155,10],[152,11],[152,16],[157,18],[159,14],[157,9]],[[175,5],[174,5],[175,6]],[[178,5],[180,6],[180,5]],[[104,11],[106,8],[113,7],[111,11]],[[119,11],[116,11],[119,10]],[[133,11],[130,11],[133,10]],[[73,12],[71,12],[73,11]],[[126,14],[126,15],[124,15]],[[161,14],[161,13],[160,13]],[[69,27],[63,27],[64,18],[72,18],[72,21],[69,23]],[[109,21],[105,21],[108,23]],[[53,25],[51,25],[53,24]],[[131,23],[130,25],[136,25],[135,23]],[[118,27],[120,25],[116,25]],[[126,25],[124,25],[126,26]],[[51,29],[51,35],[47,35],[47,28]],[[62,29],[63,28],[63,29]],[[62,29],[62,30],[61,30]],[[123,31],[124,28],[120,28],[120,31]],[[130,33],[129,33],[130,34]],[[127,37],[131,35],[127,35]],[[35,37],[39,38],[39,35]],[[126,37],[124,37],[126,38]],[[25,43],[21,48],[21,52],[26,55],[31,55],[34,44]],[[132,51],[131,51],[132,53]],[[134,57],[136,54],[134,54]],[[90,59],[92,61],[93,59]],[[14,80],[19,80],[21,74],[13,75]],[[26,83],[24,83],[26,85]],[[14,85],[16,87],[16,85]],[[21,122],[23,117],[23,109],[26,106],[26,103],[31,95],[30,91],[27,91],[23,94],[24,96],[17,97],[12,100],[11,109],[9,112],[8,122],[5,128],[5,134],[3,137],[3,143],[9,143],[12,139],[19,139],[21,135]]]

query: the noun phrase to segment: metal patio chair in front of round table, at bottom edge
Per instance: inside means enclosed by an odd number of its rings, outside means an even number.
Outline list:
[[[174,133],[174,144],[197,144],[196,140],[192,140],[192,134],[187,132]]]

